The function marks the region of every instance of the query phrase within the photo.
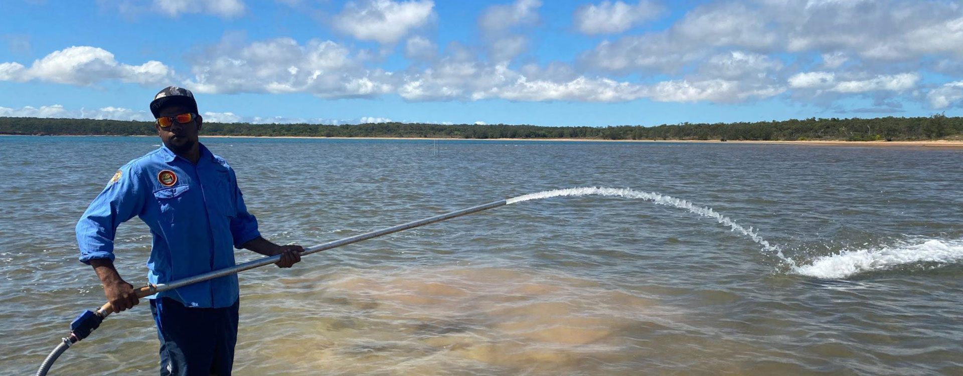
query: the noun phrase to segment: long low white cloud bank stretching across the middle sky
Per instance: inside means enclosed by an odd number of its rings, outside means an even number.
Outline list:
[[[411,38],[412,43],[419,38]],[[365,58],[330,40],[304,45],[291,38],[219,46],[195,57],[195,77],[185,86],[198,93],[307,92],[323,98],[397,94],[408,101],[739,102],[768,98],[785,90],[770,71],[782,63],[759,54],[720,54],[704,73],[651,85],[579,72],[567,63],[524,64],[484,61],[457,43],[440,59],[416,68],[385,71],[365,67]],[[717,77],[709,77],[717,76]],[[722,77],[722,78],[718,78]],[[254,121],[260,121],[255,119]]]

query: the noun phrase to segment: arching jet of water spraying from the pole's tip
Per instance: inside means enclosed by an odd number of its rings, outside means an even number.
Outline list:
[[[681,198],[672,197],[658,192],[643,192],[638,190],[633,190],[630,188],[597,188],[597,187],[586,187],[586,188],[565,188],[565,189],[555,189],[555,190],[545,190],[537,193],[530,193],[521,195],[518,197],[512,197],[506,200],[508,204],[514,204],[516,202],[537,200],[549,197],[559,197],[559,196],[585,196],[585,195],[600,195],[600,196],[620,196],[625,198],[636,198],[645,201],[652,202],[658,205],[665,205],[670,207],[675,207],[679,209],[685,209],[690,213],[699,214],[701,216],[716,219],[716,222],[728,226],[731,231],[740,233],[746,237],[752,239],[759,245],[763,246],[763,249],[774,253],[783,263],[789,264],[792,268],[795,268],[795,262],[783,255],[782,249],[778,245],[771,244],[765,238],[759,236],[759,232],[752,227],[745,228],[739,223],[736,223],[728,216],[717,213],[712,208],[700,207],[692,204],[688,200],[683,200]]]

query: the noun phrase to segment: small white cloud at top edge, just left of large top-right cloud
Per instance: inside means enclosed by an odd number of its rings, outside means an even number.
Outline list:
[[[572,15],[575,28],[587,35],[621,33],[663,13],[653,1],[641,0],[636,5],[621,1],[586,4]]]

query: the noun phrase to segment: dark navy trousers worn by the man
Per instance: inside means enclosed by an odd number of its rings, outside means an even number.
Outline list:
[[[230,375],[238,339],[238,306],[188,308],[150,299],[161,341],[161,376]]]

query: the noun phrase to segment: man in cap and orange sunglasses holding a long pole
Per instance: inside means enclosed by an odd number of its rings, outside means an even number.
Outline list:
[[[234,265],[234,247],[300,261],[299,245],[261,238],[234,170],[197,141],[202,119],[186,88],[150,102],[164,145],[124,164],[77,223],[80,261],[93,266],[115,312],[138,304],[114,267],[117,226],[138,215],[153,236],[147,280],[160,284]],[[229,275],[148,296],[161,342],[161,375],[229,375],[238,328],[238,278]]]

